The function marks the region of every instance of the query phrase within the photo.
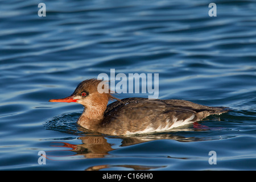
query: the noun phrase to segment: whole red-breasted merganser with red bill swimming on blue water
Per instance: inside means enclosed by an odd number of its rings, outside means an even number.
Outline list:
[[[77,123],[92,131],[109,135],[133,135],[170,130],[200,121],[211,114],[225,113],[226,107],[209,107],[184,100],[148,100],[124,98],[119,100],[97,90],[101,80],[82,81],[71,96],[49,102],[77,102],[84,111]],[[109,100],[117,100],[108,105]]]

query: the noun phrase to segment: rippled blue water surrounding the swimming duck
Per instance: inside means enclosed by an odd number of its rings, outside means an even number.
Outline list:
[[[217,1],[216,17],[205,0],[44,1],[46,17],[40,2],[1,1],[1,170],[256,169],[255,1]],[[79,127],[79,104],[48,102],[110,69],[159,73],[161,99],[233,110],[128,138]]]

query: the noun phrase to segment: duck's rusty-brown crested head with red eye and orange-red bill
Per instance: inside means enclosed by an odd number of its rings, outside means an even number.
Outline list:
[[[101,84],[102,87],[107,84],[102,84],[104,81],[97,80],[95,78],[88,79],[80,82],[77,85],[75,91],[71,96],[60,99],[52,99],[49,102],[77,102],[81,105],[84,105],[86,109],[106,109],[109,99],[116,99],[110,94],[110,90],[107,93],[98,92],[98,85]],[[102,110],[101,109],[101,110]]]

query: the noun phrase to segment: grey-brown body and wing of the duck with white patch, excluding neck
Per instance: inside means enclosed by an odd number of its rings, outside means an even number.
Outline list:
[[[208,107],[183,100],[148,100],[125,98],[110,104],[104,114],[105,129],[115,129],[116,134],[126,131],[168,129],[175,122],[200,121],[210,114],[224,112],[221,107]]]

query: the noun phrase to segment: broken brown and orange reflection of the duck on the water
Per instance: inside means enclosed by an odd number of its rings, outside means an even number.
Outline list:
[[[179,136],[178,131],[207,131],[210,130],[207,126],[200,125],[199,123],[195,123],[193,127],[180,127],[177,129],[173,129],[169,133],[155,133],[155,134],[147,134],[147,135],[134,135],[134,136],[108,136],[100,133],[90,133],[90,131],[79,127],[79,130],[84,132],[83,136],[78,137],[77,139],[81,140],[81,144],[72,144],[68,142],[52,142],[55,143],[52,147],[64,147],[64,150],[53,150],[47,152],[47,159],[49,160],[64,160],[67,159],[66,156],[57,156],[51,155],[52,152],[60,154],[62,151],[71,151],[75,152],[75,154],[71,154],[68,156],[79,156],[86,159],[94,159],[94,158],[105,158],[106,156],[111,156],[111,151],[115,150],[115,148],[132,146],[139,143],[149,142],[152,140],[161,140],[161,139],[172,139],[177,140],[179,142],[195,142],[199,140],[204,140],[202,138],[195,137],[184,137]],[[174,134],[172,134],[174,133]],[[118,147],[113,147],[116,143],[113,143],[110,139],[121,139],[121,143],[119,143]],[[116,142],[116,140],[115,140]],[[67,150],[68,148],[68,150]],[[172,156],[167,156],[168,158],[173,158]],[[86,170],[99,170],[102,168],[108,168],[109,165],[99,165],[92,166]],[[137,165],[115,165],[115,167],[125,167],[132,168],[134,170],[147,170],[158,168],[156,166],[137,166]],[[163,166],[159,166],[163,167]]]

